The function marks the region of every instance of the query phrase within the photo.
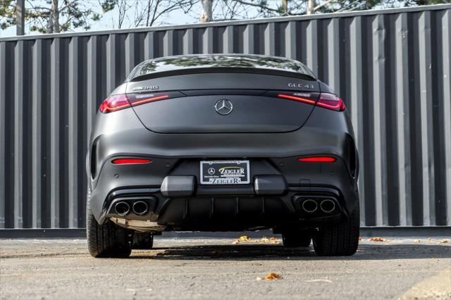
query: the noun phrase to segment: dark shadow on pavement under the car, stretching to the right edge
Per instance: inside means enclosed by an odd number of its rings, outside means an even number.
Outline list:
[[[130,259],[217,259],[217,260],[383,260],[451,258],[451,247],[439,244],[361,244],[353,256],[316,256],[309,248],[285,248],[274,244],[233,244],[156,247],[134,250]]]

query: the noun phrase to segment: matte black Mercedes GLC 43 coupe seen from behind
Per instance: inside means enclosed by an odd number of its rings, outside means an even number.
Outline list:
[[[358,156],[345,104],[304,64],[258,55],[144,61],[101,104],[87,154],[95,257],[163,231],[271,228],[352,255]]]

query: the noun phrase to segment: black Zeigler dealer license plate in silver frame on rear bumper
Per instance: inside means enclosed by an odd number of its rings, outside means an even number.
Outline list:
[[[249,185],[249,161],[201,161],[202,185]]]

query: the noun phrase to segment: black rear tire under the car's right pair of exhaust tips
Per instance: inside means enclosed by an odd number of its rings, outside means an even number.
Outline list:
[[[359,246],[359,205],[349,220],[319,227],[313,235],[313,246],[318,256],[348,256],[355,254]]]

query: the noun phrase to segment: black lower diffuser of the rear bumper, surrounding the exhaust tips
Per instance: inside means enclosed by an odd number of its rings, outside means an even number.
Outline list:
[[[136,201],[146,201],[149,210],[145,215],[137,215],[131,210],[125,216],[118,215],[115,206],[123,201],[130,207]],[[305,201],[314,201],[316,208],[306,211]],[[326,211],[321,209],[324,201],[332,201],[333,206]],[[358,201],[358,198],[354,197],[352,201]],[[174,198],[162,196],[158,189],[121,189],[111,193],[101,218],[149,222],[154,225],[147,229],[155,231],[235,231],[310,227],[347,218],[347,215],[347,203],[340,192],[330,187],[290,187],[284,194],[269,196],[193,194]]]

